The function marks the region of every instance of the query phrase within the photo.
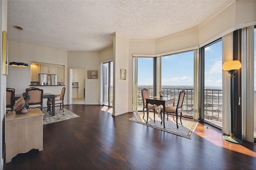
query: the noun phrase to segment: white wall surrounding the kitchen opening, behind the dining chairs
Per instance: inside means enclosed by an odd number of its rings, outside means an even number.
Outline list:
[[[9,40],[9,62],[18,61],[17,57],[17,41]],[[26,92],[26,88],[30,86],[30,62],[59,64],[65,66],[65,85],[67,86],[67,51],[45,47],[42,45],[30,44],[22,42],[22,59],[24,63],[28,63],[28,67],[8,66],[8,76],[6,86],[14,88],[15,94],[22,94]],[[60,94],[64,86],[38,86],[43,89],[45,93]],[[64,104],[67,104],[67,93],[65,92]],[[43,107],[47,107],[47,99],[43,100]]]

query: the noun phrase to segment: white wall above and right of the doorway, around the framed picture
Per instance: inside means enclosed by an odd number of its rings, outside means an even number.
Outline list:
[[[99,53],[97,51],[68,51],[68,68],[86,68],[99,71]],[[69,75],[69,73],[68,73]],[[86,75],[86,104],[99,104],[99,78],[87,79]]]

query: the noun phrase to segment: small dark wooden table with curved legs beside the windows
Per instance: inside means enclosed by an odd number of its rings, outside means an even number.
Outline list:
[[[168,106],[170,104],[172,104],[172,106],[175,105],[175,98],[170,98],[170,97],[161,97],[160,96],[155,96],[155,97],[151,97],[151,98],[146,98],[146,108],[147,108],[147,121],[146,123],[148,123],[148,104],[155,104],[157,106],[162,105],[163,106],[163,118],[162,118],[162,112],[161,112],[161,125],[162,122],[164,121],[164,115],[165,115],[165,106]],[[165,124],[164,124],[164,128],[165,128]]]

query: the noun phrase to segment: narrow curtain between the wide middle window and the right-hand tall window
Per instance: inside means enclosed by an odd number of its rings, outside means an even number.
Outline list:
[[[193,119],[198,120],[199,116],[199,49],[194,50],[194,116]]]

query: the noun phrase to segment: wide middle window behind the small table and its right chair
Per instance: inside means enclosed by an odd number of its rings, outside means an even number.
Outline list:
[[[165,96],[175,97],[176,104],[179,92],[185,90],[182,115],[193,117],[194,51],[163,56],[161,63],[161,90]]]

